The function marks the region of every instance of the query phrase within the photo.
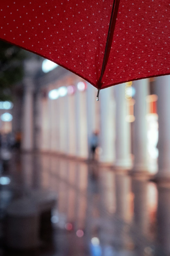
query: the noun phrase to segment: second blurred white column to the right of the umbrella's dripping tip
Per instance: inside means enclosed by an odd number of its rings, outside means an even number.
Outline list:
[[[116,161],[115,166],[130,169],[131,159],[131,136],[130,123],[126,121],[127,100],[125,99],[125,84],[115,85],[116,99]]]

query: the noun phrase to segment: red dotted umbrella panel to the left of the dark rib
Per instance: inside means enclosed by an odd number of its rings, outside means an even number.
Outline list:
[[[111,3],[59,0],[56,6],[53,0],[2,1],[0,38],[54,60],[95,85],[103,63]]]

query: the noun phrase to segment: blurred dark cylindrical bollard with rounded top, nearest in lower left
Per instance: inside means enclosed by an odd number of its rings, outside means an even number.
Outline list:
[[[14,249],[31,249],[39,245],[39,214],[31,198],[15,200],[7,209],[5,243]]]

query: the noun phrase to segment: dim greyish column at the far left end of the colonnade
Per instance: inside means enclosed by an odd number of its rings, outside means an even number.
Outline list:
[[[33,90],[32,79],[25,78],[21,148],[29,151],[33,149]]]

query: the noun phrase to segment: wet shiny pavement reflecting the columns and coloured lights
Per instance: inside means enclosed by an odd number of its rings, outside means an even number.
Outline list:
[[[97,163],[47,154],[16,154],[10,169],[21,190],[45,188],[58,194],[52,242],[35,255],[169,255],[167,187]]]

